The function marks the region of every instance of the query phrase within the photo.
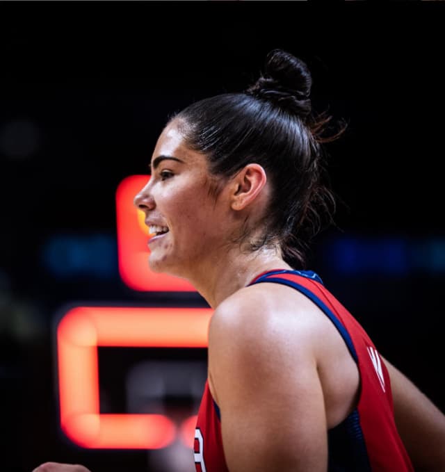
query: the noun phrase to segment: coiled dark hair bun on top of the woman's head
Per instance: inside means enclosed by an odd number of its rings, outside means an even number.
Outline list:
[[[312,109],[311,87],[307,65],[288,52],[274,49],[266,57],[264,74],[246,92],[306,117]]]

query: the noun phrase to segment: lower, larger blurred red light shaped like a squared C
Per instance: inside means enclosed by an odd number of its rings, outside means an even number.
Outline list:
[[[57,329],[60,425],[67,437],[86,448],[156,449],[172,443],[177,427],[167,416],[100,414],[97,347],[205,348],[211,312],[135,307],[67,311]],[[184,424],[181,436],[190,437],[190,424]]]

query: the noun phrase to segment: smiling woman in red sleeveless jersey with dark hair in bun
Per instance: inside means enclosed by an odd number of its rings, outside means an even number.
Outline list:
[[[135,198],[152,270],[190,280],[214,309],[196,469],[444,471],[444,415],[302,270],[333,208],[311,85],[301,60],[272,51],[248,90],[170,120]]]

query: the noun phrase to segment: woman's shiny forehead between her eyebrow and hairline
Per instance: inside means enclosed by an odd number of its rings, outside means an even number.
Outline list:
[[[170,122],[159,136],[156,146],[154,147],[152,161],[156,156],[173,156],[188,163],[207,164],[207,159],[203,154],[185,145],[184,136],[175,120]]]

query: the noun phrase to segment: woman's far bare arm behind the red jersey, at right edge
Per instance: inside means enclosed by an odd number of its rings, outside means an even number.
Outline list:
[[[419,471],[445,470],[445,416],[386,359],[398,433]]]

